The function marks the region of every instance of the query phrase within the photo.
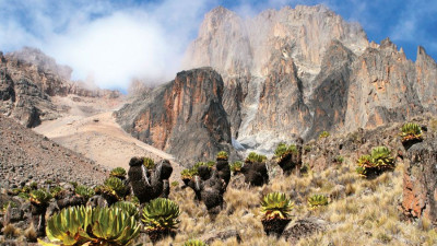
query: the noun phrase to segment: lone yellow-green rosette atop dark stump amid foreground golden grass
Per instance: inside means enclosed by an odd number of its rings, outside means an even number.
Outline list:
[[[290,219],[294,203],[286,198],[285,194],[271,192],[261,200],[261,213],[263,220]]]

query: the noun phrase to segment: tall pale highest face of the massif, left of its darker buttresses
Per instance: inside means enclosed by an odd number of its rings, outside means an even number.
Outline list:
[[[277,141],[309,134],[310,98],[321,83],[315,78],[333,39],[357,55],[368,46],[359,25],[322,5],[267,10],[249,20],[216,8],[205,15],[184,66],[211,66],[223,75],[236,145],[267,152]]]

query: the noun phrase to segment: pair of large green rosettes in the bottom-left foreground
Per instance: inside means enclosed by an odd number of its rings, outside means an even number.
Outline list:
[[[135,218],[119,208],[70,207],[47,220],[46,233],[62,245],[129,245],[140,229]]]

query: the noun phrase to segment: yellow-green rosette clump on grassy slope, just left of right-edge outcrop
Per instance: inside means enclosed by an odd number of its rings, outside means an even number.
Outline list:
[[[387,147],[376,147],[371,153],[359,156],[356,172],[364,177],[379,175],[394,168],[394,159]]]

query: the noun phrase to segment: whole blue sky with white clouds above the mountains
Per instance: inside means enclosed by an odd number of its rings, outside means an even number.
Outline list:
[[[125,91],[132,79],[172,80],[213,8],[250,17],[296,4],[324,4],[358,22],[369,40],[390,37],[409,59],[420,45],[437,58],[434,0],[0,0],[0,50],[36,47],[70,66],[74,80]]]

